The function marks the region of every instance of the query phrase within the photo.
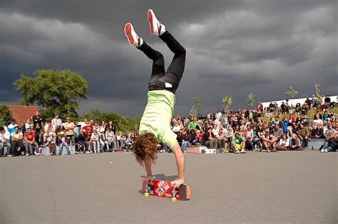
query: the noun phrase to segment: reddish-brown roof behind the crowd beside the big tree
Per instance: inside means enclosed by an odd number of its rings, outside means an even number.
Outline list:
[[[6,105],[11,110],[12,118],[16,119],[16,124],[25,124],[27,119],[33,117],[35,112],[39,111],[37,106],[24,106],[24,105]]]

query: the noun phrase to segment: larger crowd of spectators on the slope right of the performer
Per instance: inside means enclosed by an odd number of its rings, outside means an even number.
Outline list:
[[[280,107],[272,102],[264,108],[259,103],[255,110],[220,110],[192,120],[178,116],[171,125],[183,152],[191,145],[236,154],[306,150],[311,139],[324,139],[320,151],[327,152],[337,150],[337,114],[332,108],[334,102],[328,96],[322,104],[307,98],[293,108],[285,100]],[[307,117],[309,111],[315,112],[312,122]]]

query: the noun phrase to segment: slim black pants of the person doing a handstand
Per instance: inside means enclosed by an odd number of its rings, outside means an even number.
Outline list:
[[[148,83],[148,89],[151,90],[168,90],[175,94],[180,84],[180,80],[183,76],[184,67],[185,67],[185,55],[186,51],[183,46],[176,41],[176,39],[169,33],[165,31],[161,36],[159,36],[162,41],[164,41],[168,48],[173,51],[174,58],[170,63],[167,72],[164,68],[164,58],[162,53],[154,50],[147,43],[138,47],[148,58],[153,60],[153,68],[151,71],[150,80]],[[165,82],[167,85],[165,85]],[[168,85],[170,84],[170,85]]]

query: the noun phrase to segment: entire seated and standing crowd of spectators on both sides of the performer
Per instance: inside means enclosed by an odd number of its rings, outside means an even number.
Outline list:
[[[189,146],[201,145],[235,154],[245,154],[247,150],[306,150],[310,139],[324,139],[319,150],[327,152],[337,150],[338,145],[337,114],[331,109],[332,102],[327,98],[323,104],[307,98],[304,105],[297,104],[295,108],[288,105],[288,100],[280,107],[271,103],[263,108],[259,103],[255,110],[220,110],[207,115],[173,117],[171,128],[183,152]],[[316,112],[312,122],[307,117],[310,110]],[[70,154],[71,147],[75,154],[130,151],[137,137],[135,132],[117,132],[113,120],[107,124],[87,119],[72,122],[68,117],[63,122],[55,114],[45,122],[36,112],[22,127],[15,119],[0,127],[0,156],[39,156],[47,146],[52,155],[62,154],[63,149]],[[162,143],[158,144],[158,150],[170,152]]]

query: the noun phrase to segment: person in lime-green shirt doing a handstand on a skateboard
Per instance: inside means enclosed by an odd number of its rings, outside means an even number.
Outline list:
[[[175,105],[175,91],[183,75],[185,67],[185,49],[165,30],[163,23],[156,18],[153,10],[148,10],[150,33],[158,35],[168,48],[173,51],[173,61],[165,72],[163,55],[148,46],[135,33],[133,25],[127,23],[124,31],[131,46],[136,46],[148,58],[153,60],[153,68],[148,82],[148,103],[140,121],[140,135],[133,146],[133,153],[140,165],[145,166],[146,181],[153,178],[151,165],[157,159],[158,141],[167,144],[175,155],[178,178],[171,182],[178,187],[184,182],[184,156],[176,140],[176,134],[170,129]]]

